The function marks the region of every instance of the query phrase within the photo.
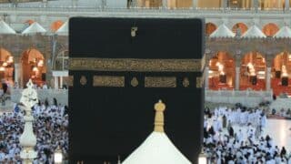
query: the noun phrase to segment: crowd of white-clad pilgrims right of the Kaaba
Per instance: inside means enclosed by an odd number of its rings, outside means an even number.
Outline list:
[[[208,159],[216,164],[291,164],[291,153],[278,148],[270,136],[263,136],[266,120],[263,108],[206,108],[204,151]]]

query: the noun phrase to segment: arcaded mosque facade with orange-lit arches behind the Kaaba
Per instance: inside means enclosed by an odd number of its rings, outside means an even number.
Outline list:
[[[207,89],[273,89],[277,95],[282,92],[290,95],[290,2],[44,0],[3,3],[0,19],[16,34],[0,35],[0,77],[20,85],[30,77],[39,85],[44,82],[51,87],[69,85],[68,36],[58,35],[56,31],[70,17],[201,17],[206,19]],[[22,34],[35,22],[45,32]],[[7,63],[9,56],[13,56],[12,63]]]

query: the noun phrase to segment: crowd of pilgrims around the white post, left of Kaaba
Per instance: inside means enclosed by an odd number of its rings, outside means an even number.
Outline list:
[[[35,104],[33,127],[36,136],[35,151],[38,153],[34,164],[53,163],[55,149],[62,150],[64,159],[68,151],[68,108],[57,104],[56,99],[49,104],[39,102]],[[15,105],[14,112],[0,115],[0,163],[18,164],[21,146],[19,138],[25,125],[24,111]]]

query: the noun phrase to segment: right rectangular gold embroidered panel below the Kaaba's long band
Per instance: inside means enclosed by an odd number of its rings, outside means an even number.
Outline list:
[[[145,87],[176,87],[176,77],[145,77]]]

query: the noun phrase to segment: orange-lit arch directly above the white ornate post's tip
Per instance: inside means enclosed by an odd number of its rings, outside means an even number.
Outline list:
[[[45,83],[45,56],[35,48],[28,48],[20,57],[22,64],[22,85],[25,86],[29,78],[37,86]]]

